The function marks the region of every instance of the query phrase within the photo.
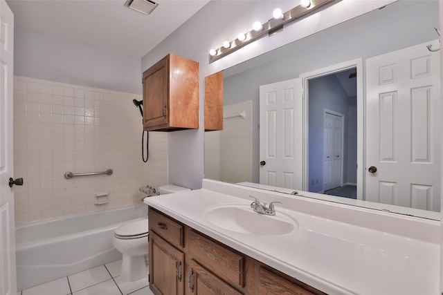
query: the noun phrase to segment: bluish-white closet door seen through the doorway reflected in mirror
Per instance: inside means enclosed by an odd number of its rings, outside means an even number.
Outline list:
[[[343,115],[325,111],[323,190],[341,187],[343,171]]]

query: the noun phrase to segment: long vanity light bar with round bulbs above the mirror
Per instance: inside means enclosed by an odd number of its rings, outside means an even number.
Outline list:
[[[329,3],[338,2],[341,0],[300,0],[300,5],[288,10],[287,12],[282,12],[280,9],[274,10],[273,19],[269,19],[266,23],[260,23],[255,21],[253,23],[253,30],[249,32],[240,33],[237,39],[233,41],[224,41],[222,46],[218,49],[211,49],[209,53],[209,62],[221,59],[236,50],[239,50],[243,46],[246,46],[253,41],[260,39],[265,34],[269,36],[280,32],[283,30],[283,26],[291,21],[300,19],[300,17],[305,17],[306,15],[314,14],[318,8],[325,6]],[[303,5],[303,6],[302,6]],[[244,37],[244,38],[243,38]]]

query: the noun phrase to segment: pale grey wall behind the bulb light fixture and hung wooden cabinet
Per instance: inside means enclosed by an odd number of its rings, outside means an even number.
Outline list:
[[[218,48],[225,39],[233,40],[239,32],[251,30],[252,23],[264,23],[279,6],[287,11],[295,6],[293,1],[210,1],[197,14],[163,40],[142,59],[142,70],[159,61],[168,53],[181,55],[200,65],[200,125],[204,124],[204,77],[302,37],[352,19],[379,8],[388,1],[343,0],[313,17],[291,23],[273,37],[263,37],[241,50],[209,64],[210,48]],[[169,134],[169,180],[173,184],[199,189],[204,177],[204,129],[176,131]]]

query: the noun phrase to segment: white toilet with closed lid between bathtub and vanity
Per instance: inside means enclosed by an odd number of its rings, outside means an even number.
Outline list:
[[[190,191],[186,187],[168,184],[159,187],[159,194]],[[120,275],[127,282],[141,280],[148,274],[148,223],[147,219],[127,222],[114,231],[112,243],[123,254]]]

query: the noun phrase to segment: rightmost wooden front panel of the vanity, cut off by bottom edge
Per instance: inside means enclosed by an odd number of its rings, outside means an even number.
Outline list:
[[[260,283],[259,283],[259,295],[314,295],[315,293],[309,292],[307,289],[296,285],[295,283],[269,272],[269,270],[260,267]]]

